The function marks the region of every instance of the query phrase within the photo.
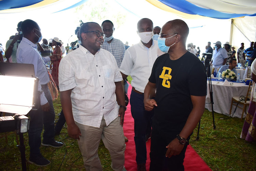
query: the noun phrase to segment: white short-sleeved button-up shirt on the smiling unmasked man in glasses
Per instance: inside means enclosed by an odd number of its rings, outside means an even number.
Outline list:
[[[93,55],[80,45],[60,61],[59,89],[72,89],[73,117],[83,125],[99,128],[103,116],[106,125],[118,116],[115,82],[122,80],[114,56],[102,48]]]

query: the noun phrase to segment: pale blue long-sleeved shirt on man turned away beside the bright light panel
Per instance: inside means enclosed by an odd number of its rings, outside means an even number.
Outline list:
[[[41,90],[41,85],[47,84],[50,79],[45,66],[49,62],[50,57],[42,58],[37,50],[37,45],[32,43],[27,38],[23,37],[17,49],[17,63],[31,63],[34,65],[35,76],[39,78],[38,90]],[[44,96],[44,92],[40,95],[41,105],[48,101]]]

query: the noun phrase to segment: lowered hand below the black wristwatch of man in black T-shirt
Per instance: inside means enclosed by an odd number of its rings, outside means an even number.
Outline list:
[[[179,155],[184,148],[184,145],[180,144],[179,140],[175,138],[166,146],[167,152],[165,154],[166,157]]]

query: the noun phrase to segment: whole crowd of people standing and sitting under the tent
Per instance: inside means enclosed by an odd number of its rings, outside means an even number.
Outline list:
[[[77,139],[86,170],[102,170],[98,157],[101,139],[110,151],[112,169],[126,170],[124,153],[128,139],[123,125],[130,75],[138,171],[146,170],[149,138],[151,171],[184,170],[190,136],[204,112],[207,76],[199,60],[200,48],[197,50],[196,45],[189,43],[186,49],[189,28],[183,20],[171,20],[160,28],[153,27],[149,18],[140,19],[137,23],[140,41],[132,46],[113,37],[115,27],[110,20],[101,25],[88,22],[77,27],[77,41],[66,47],[57,37],[42,39],[39,25],[30,19],[19,22],[17,31],[6,42],[7,62],[33,64],[39,78],[38,90],[42,92],[41,108],[29,112],[29,162],[49,165],[50,161],[40,153],[40,145],[63,146],[54,136],[60,134],[66,122],[69,136]],[[231,51],[229,42],[224,48],[219,41],[214,44],[212,49],[208,42],[205,53],[213,54],[211,63],[215,70],[234,69],[237,64],[234,48]],[[245,55],[253,61],[255,46],[252,42],[244,50],[242,43],[238,62],[244,62]],[[53,100],[58,90],[62,110],[54,126]]]

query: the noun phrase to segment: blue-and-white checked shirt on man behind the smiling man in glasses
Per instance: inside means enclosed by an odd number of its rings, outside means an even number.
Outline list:
[[[116,59],[118,68],[120,68],[125,55],[125,45],[122,41],[113,38],[111,43],[108,43],[106,40],[101,45],[102,49],[109,51]]]

